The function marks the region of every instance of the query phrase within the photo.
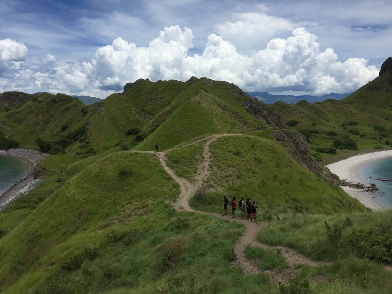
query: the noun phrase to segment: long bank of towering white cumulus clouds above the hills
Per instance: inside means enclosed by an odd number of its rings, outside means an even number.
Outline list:
[[[288,29],[290,25],[282,21],[276,27]],[[99,98],[121,91],[125,83],[139,78],[185,81],[191,76],[208,77],[235,83],[245,91],[322,95],[355,91],[378,75],[376,67],[368,66],[363,58],[341,62],[332,48],[321,51],[317,39],[297,27],[288,38],[272,38],[263,49],[245,54],[223,36],[210,34],[203,53],[191,55],[192,31],[176,25],[165,27],[146,47],[116,38],[111,45],[99,47],[91,59],[57,65],[56,57],[47,54],[40,60],[40,74],[23,74],[31,87]],[[14,57],[16,62],[24,54],[14,56],[19,56]],[[15,78],[21,79],[22,74]]]

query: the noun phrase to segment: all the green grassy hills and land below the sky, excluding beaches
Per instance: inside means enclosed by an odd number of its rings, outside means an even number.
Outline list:
[[[92,105],[3,93],[2,149],[50,156],[0,213],[0,291],[390,293],[392,211],[324,167],[391,149],[385,64],[340,101],[295,105],[195,77]],[[259,202],[258,222],[222,216],[223,195]]]

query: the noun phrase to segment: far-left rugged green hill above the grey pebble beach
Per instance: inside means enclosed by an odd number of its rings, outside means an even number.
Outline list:
[[[21,147],[37,149],[36,138],[56,140],[79,127],[83,107],[80,100],[71,96],[42,93],[7,112],[1,111],[0,131],[20,142]],[[64,130],[63,125],[67,125]]]

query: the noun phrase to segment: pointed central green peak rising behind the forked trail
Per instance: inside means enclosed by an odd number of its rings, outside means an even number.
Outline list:
[[[153,150],[156,142],[165,150],[197,136],[247,132],[265,125],[245,111],[243,96],[246,94],[229,83],[196,80],[168,106],[173,110],[171,116],[134,150]]]

